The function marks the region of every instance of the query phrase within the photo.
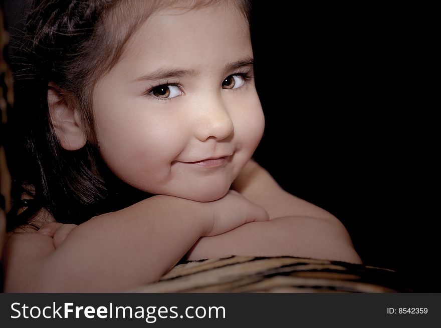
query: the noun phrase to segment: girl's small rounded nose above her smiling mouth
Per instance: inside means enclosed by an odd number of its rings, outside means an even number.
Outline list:
[[[234,131],[233,121],[228,108],[220,99],[207,100],[206,105],[201,106],[195,125],[195,136],[200,141],[208,138],[224,140],[231,136]]]

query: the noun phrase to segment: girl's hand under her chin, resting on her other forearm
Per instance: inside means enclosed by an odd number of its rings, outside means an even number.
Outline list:
[[[206,203],[211,206],[212,224],[204,236],[215,236],[233,230],[245,223],[268,221],[268,213],[234,190],[223,198]]]

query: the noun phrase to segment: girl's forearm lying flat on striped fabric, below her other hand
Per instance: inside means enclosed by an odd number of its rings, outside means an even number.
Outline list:
[[[252,222],[222,235],[200,238],[189,260],[241,256],[295,256],[361,263],[344,228],[313,217]]]

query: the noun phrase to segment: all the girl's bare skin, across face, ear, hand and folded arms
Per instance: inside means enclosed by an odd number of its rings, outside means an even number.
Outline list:
[[[251,67],[226,69],[253,55],[242,14],[228,6],[175,14],[157,12],[140,27],[93,98],[105,162],[157,196],[79,226],[52,222],[11,235],[5,291],[124,291],[156,281],[182,257],[360,263],[338,219],[286,193],[250,160],[263,133],[262,108],[253,79],[239,76],[251,75]],[[170,68],[195,74],[140,80]],[[232,81],[239,87],[224,88]],[[161,92],[152,88],[166,83],[178,84],[166,88],[173,97],[153,97]],[[62,146],[75,150],[84,145],[84,129],[62,94],[50,86],[51,117]],[[194,163],[207,158],[218,161]],[[39,216],[55,221],[44,211]]]

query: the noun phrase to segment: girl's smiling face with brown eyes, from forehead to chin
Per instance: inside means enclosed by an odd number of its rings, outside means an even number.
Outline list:
[[[152,194],[223,197],[264,130],[252,58],[231,5],[153,14],[94,89],[104,161]]]

